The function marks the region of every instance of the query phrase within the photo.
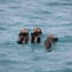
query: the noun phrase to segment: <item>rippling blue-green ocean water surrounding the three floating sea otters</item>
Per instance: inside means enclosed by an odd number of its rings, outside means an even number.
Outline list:
[[[40,44],[18,44],[27,28],[43,31]],[[51,52],[43,42],[59,38]],[[72,72],[72,0],[0,0],[0,72]]]

